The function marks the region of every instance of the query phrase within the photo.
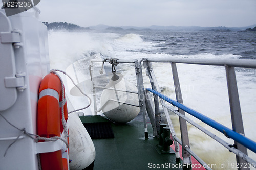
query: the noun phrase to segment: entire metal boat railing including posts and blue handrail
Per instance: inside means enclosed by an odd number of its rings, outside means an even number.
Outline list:
[[[94,62],[102,62],[99,60],[92,60]],[[139,106],[140,110],[143,113],[144,120],[144,129],[145,129],[145,138],[148,138],[147,124],[146,124],[146,112],[148,117],[150,117],[153,127],[153,135],[157,136],[159,132],[159,123],[161,122],[160,118],[160,107],[159,100],[163,107],[164,114],[166,116],[167,124],[170,128],[170,132],[172,138],[174,140],[176,158],[179,159],[179,144],[182,146],[182,155],[183,155],[183,163],[187,164],[188,167],[191,165],[191,155],[206,169],[211,169],[207,166],[207,164],[199,158],[195,152],[190,149],[189,145],[189,137],[187,131],[186,122],[195,126],[220,144],[222,144],[225,148],[227,148],[230,152],[236,154],[238,169],[250,169],[249,167],[256,166],[256,161],[248,157],[247,149],[256,153],[256,142],[248,139],[244,136],[244,126],[242,120],[242,113],[239,101],[238,94],[238,86],[236,80],[236,72],[235,67],[242,68],[256,68],[256,60],[245,60],[245,59],[187,59],[187,58],[166,58],[166,59],[140,59],[140,60],[117,60],[117,63],[133,63],[135,64],[135,73],[137,78],[137,88],[139,95]],[[173,73],[174,87],[176,93],[176,101],[168,98],[167,96],[161,94],[160,87],[158,85],[156,76],[154,74],[152,63],[170,63]],[[211,66],[224,66],[226,69],[226,79],[227,79],[227,87],[228,87],[228,95],[229,95],[229,105],[230,105],[230,113],[231,113],[231,121],[232,121],[232,130],[225,127],[222,124],[219,124],[215,120],[212,120],[205,115],[188,108],[183,104],[182,93],[180,89],[180,82],[178,71],[176,67],[176,63],[183,64],[197,64],[197,65],[211,65]],[[142,75],[142,67],[146,69],[146,74],[150,79],[152,88],[144,88],[143,75]],[[94,84],[94,82],[93,82]],[[94,92],[95,92],[95,87]],[[150,94],[148,92],[152,92],[154,96],[154,104],[151,100]],[[94,94],[94,98],[96,101],[96,95]],[[178,108],[177,111],[174,108],[169,107],[165,104],[165,101],[176,106]],[[95,108],[97,110],[97,106]],[[170,119],[168,110],[172,111],[174,114],[179,116],[180,122],[180,130],[181,130],[181,140],[176,136],[174,126],[172,120]],[[209,125],[212,128],[215,128],[219,132],[223,133],[227,138],[232,138],[234,140],[234,144],[229,144],[220,137],[206,130],[199,124],[195,123],[189,117],[185,115],[185,112],[196,117],[201,120],[205,124]],[[154,116],[155,114],[155,116]],[[244,166],[247,165],[247,166]],[[251,166],[250,166],[251,165]],[[190,166],[191,167],[191,166]]]

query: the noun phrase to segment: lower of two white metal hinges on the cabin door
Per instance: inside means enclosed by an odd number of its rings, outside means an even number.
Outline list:
[[[18,72],[15,77],[5,77],[5,87],[16,87],[18,91],[23,91],[27,88],[25,85],[25,72]]]

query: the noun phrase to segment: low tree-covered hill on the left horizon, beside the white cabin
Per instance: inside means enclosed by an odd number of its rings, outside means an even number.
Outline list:
[[[75,25],[73,23],[67,23],[67,22],[43,22],[48,30],[67,30],[67,31],[75,31],[75,30],[90,30],[89,27],[80,27],[78,25]]]

